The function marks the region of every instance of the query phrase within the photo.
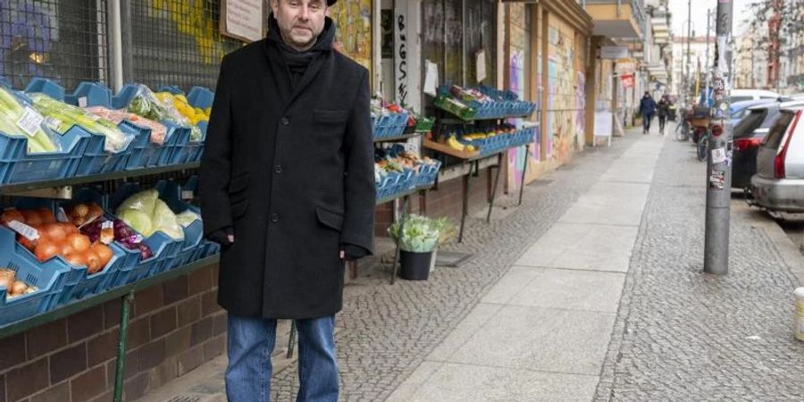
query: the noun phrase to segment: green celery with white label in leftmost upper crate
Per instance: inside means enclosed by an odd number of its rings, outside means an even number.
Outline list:
[[[44,125],[45,117],[25,103],[13,90],[0,85],[0,131],[26,136],[29,154],[61,150],[57,134]]]

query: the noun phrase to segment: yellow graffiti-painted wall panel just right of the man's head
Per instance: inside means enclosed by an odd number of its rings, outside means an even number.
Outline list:
[[[341,0],[330,7],[338,27],[336,49],[372,71],[372,0]]]

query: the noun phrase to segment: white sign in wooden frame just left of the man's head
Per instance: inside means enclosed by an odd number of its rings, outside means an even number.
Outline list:
[[[222,0],[221,34],[254,42],[263,38],[263,0]]]

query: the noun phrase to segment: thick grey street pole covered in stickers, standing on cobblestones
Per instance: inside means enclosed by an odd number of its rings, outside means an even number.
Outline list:
[[[719,0],[714,65],[715,108],[707,156],[707,218],[704,272],[729,272],[729,214],[732,199],[732,127],[727,123],[732,63],[727,60],[732,35],[732,0]]]

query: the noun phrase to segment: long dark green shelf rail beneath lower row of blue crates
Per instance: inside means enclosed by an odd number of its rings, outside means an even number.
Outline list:
[[[70,303],[68,305],[55,308],[54,310],[48,311],[46,313],[33,315],[30,318],[18,322],[12,322],[4,327],[0,327],[0,339],[12,336],[14,334],[23,331],[28,331],[31,328],[38,327],[40,325],[46,324],[47,322],[54,322],[55,320],[58,320],[60,318],[64,318],[66,316],[78,313],[80,311],[84,311],[90,307],[103,304],[115,298],[124,297],[131,292],[146,289],[155,284],[162,283],[164,281],[169,281],[172,280],[173,278],[182,275],[187,275],[188,273],[197,271],[198,269],[201,268],[205,268],[209,265],[217,264],[219,257],[220,255],[210,255],[200,260],[194,261],[190,264],[185,264],[178,266],[176,268],[172,268],[171,270],[158,273],[146,279],[136,281],[128,285],[123,285],[114,289],[109,289],[103,293],[97,294],[96,296],[80,299],[74,303]]]

